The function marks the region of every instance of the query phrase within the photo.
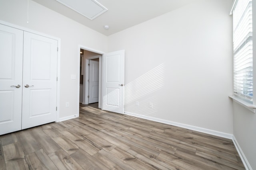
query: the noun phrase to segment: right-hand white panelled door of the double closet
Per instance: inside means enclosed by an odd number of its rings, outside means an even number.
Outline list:
[[[24,31],[22,129],[56,121],[57,41]]]

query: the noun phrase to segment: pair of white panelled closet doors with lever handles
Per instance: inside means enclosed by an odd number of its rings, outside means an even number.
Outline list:
[[[56,121],[57,40],[0,25],[0,135]]]

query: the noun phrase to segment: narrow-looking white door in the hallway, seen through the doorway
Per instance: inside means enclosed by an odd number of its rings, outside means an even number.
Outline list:
[[[99,101],[99,62],[89,60],[89,104]]]

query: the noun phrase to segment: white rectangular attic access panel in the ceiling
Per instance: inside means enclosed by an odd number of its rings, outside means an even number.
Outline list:
[[[68,8],[78,12],[86,18],[93,20],[108,9],[96,0],[56,0]]]

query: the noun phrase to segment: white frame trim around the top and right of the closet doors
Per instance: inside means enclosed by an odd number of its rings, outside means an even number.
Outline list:
[[[57,58],[58,59],[57,59],[57,77],[56,77],[56,79],[58,79],[58,80],[57,80],[57,95],[56,95],[56,107],[57,107],[56,108],[56,122],[59,122],[60,121],[60,49],[61,49],[60,48],[60,42],[61,42],[61,39],[58,38],[58,37],[54,37],[54,36],[51,36],[51,35],[48,35],[48,34],[45,34],[45,33],[41,33],[41,32],[38,32],[38,31],[34,31],[32,29],[28,29],[26,27],[22,27],[22,26],[12,24],[12,23],[9,23],[9,22],[6,22],[6,21],[2,21],[2,20],[0,20],[0,24],[57,40],[57,48],[58,48],[57,49],[58,50],[57,51]]]

